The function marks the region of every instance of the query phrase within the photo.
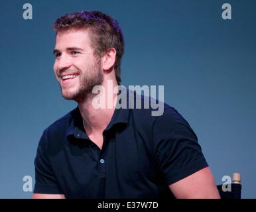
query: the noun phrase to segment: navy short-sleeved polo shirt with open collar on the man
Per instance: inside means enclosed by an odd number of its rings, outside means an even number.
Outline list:
[[[208,166],[188,122],[164,104],[115,109],[100,150],[84,131],[78,107],[42,134],[34,160],[34,193],[66,198],[170,197],[168,185]]]

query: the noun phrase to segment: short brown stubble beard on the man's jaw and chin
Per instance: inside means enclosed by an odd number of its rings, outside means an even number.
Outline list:
[[[103,74],[101,72],[99,62],[96,62],[91,68],[88,70],[84,70],[82,72],[79,70],[80,78],[79,87],[76,91],[73,92],[64,92],[60,85],[60,89],[62,92],[62,97],[67,100],[74,100],[77,103],[82,103],[87,101],[88,99],[92,99],[94,97],[94,93],[92,93],[92,89],[96,85],[102,85],[103,83]]]

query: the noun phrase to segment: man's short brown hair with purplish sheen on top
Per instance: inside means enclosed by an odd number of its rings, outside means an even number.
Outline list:
[[[121,83],[121,60],[125,52],[123,32],[115,19],[99,11],[78,11],[58,18],[53,29],[64,32],[70,29],[88,29],[94,47],[94,54],[101,57],[109,48],[115,48],[115,78]]]

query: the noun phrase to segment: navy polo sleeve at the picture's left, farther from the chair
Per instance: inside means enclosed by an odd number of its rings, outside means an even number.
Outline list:
[[[63,194],[54,176],[52,166],[47,155],[47,130],[42,134],[34,159],[35,179],[34,193]]]

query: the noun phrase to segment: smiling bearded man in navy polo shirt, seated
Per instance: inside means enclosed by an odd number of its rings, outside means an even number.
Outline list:
[[[96,85],[117,104],[108,86],[121,83],[117,21],[80,11],[57,19],[54,30],[54,74],[78,107],[42,134],[33,197],[219,198],[196,134],[176,109],[164,105],[154,117],[152,109],[94,107]]]

